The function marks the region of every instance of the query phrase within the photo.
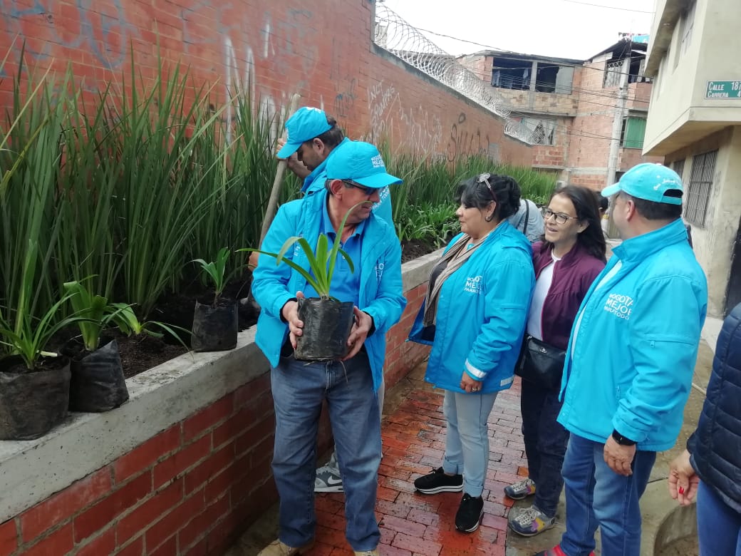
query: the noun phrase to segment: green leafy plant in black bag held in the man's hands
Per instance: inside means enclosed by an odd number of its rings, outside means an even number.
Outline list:
[[[339,229],[345,227],[345,222],[353,209],[362,204],[359,203],[350,208],[342,219]],[[303,333],[296,338],[294,350],[294,357],[298,360],[341,360],[348,353],[348,337],[353,327],[353,302],[341,302],[330,296],[337,257],[345,259],[350,272],[355,271],[352,259],[340,248],[340,243],[340,234],[336,234],[331,247],[328,236],[321,234],[316,241],[316,250],[311,248],[305,238],[299,236],[286,239],[278,253],[253,248],[239,249],[239,251],[255,251],[275,257],[276,265],[284,262],[301,274],[319,295],[319,297],[299,297],[298,299],[299,319],[304,322]],[[294,244],[298,244],[305,254],[310,267],[309,271],[285,257]]]

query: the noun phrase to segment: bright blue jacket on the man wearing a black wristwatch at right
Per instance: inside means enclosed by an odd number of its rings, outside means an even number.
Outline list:
[[[595,442],[617,430],[639,450],[674,446],[707,304],[681,219],[614,248],[571,328],[559,423]]]

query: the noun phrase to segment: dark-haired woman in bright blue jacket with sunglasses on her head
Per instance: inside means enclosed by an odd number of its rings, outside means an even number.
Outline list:
[[[483,514],[489,459],[487,418],[509,388],[535,284],[530,242],[507,222],[519,185],[484,173],[462,182],[461,233],[430,274],[410,340],[432,345],[425,380],[445,390],[442,466],[417,478],[422,494],[463,492],[455,526],[473,532]]]

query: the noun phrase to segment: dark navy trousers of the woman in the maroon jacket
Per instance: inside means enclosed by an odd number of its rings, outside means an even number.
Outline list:
[[[528,475],[536,485],[534,504],[548,517],[554,517],[563,488],[561,468],[568,444],[568,431],[556,421],[562,403],[558,391],[529,380],[522,380],[519,402]]]

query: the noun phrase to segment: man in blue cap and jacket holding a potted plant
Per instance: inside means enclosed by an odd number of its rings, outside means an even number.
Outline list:
[[[295,236],[315,249],[339,239],[342,257],[324,259],[333,268],[328,292],[319,291],[316,268],[296,246],[276,265],[266,254],[253,274],[253,294],[262,306],[256,342],[272,367],[276,411],[273,475],[281,498],[279,539],[261,556],[298,555],[313,545],[313,465],[323,400],[345,486],[346,536],[356,555],[377,555],[380,534],[374,508],[381,460],[379,404],[373,395],[382,380],[385,333],[406,305],[402,295],[401,248],[393,227],[371,211],[379,189],[401,182],[385,171],[378,150],[348,142],[327,164],[325,191],[283,205],[262,250],[281,251]],[[337,254],[339,250],[333,249]],[[326,257],[326,253],[324,254]],[[347,257],[345,257],[347,255]],[[315,282],[313,285],[311,282]],[[348,353],[341,360],[306,363],[293,357],[304,333],[298,298],[319,294],[353,302]]]

